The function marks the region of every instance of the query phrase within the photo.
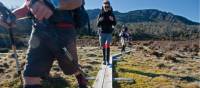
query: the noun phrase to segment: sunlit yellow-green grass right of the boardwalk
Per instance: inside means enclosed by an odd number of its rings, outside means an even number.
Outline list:
[[[197,64],[173,63],[153,56],[145,57],[140,51],[126,55],[115,63],[114,76],[120,78],[132,78],[134,83],[114,82],[114,88],[200,88],[198,75],[191,75],[198,70]],[[192,64],[192,65],[190,65]],[[193,67],[191,74],[182,73],[178,67]],[[161,68],[160,68],[161,67]],[[177,67],[176,70],[171,68]],[[188,70],[186,70],[188,71]],[[187,87],[189,86],[189,87]]]

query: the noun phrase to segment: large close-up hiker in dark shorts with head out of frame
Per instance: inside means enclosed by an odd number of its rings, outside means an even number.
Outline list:
[[[82,0],[25,0],[22,7],[13,11],[17,19],[28,14],[33,20],[23,73],[24,88],[42,88],[41,81],[49,76],[55,60],[64,74],[76,76],[79,88],[87,88],[87,80],[78,65],[75,30],[76,23],[80,23],[77,21],[84,20],[76,20],[82,14],[74,13],[84,12],[79,9],[83,3]],[[4,27],[8,26],[4,24]],[[71,56],[72,61],[66,56]]]

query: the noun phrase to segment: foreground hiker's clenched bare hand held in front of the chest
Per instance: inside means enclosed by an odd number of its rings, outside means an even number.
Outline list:
[[[48,19],[50,16],[53,15],[53,11],[45,5],[43,1],[37,1],[30,7],[30,11],[34,15],[34,17],[38,20]]]

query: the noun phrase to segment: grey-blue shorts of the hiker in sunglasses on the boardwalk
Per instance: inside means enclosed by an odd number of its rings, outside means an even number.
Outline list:
[[[99,42],[100,42],[100,46],[103,47],[103,45],[106,43],[110,45],[110,43],[112,42],[112,33],[101,33],[99,36]]]

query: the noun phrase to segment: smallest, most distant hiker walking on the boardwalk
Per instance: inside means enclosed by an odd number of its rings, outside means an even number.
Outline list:
[[[122,30],[119,33],[119,37],[122,45],[121,52],[125,52],[125,48],[127,46],[127,43],[129,42],[129,32],[128,28],[125,25],[122,26]]]

